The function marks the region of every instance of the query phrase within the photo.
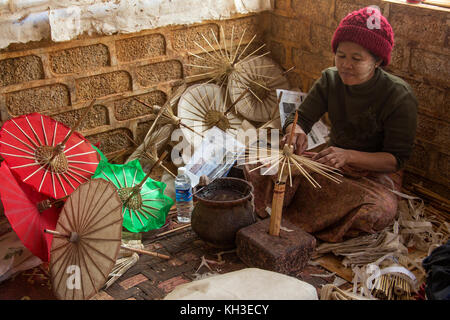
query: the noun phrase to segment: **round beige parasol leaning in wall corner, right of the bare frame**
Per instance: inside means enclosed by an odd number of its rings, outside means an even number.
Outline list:
[[[244,118],[267,122],[279,114],[276,89],[289,89],[283,70],[268,57],[260,57],[236,66],[228,78],[228,92],[234,102],[245,89],[249,92],[236,103]]]

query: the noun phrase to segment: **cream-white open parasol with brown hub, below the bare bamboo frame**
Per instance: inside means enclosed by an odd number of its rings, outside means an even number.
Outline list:
[[[193,85],[187,88],[178,102],[178,116],[183,124],[200,134],[216,126],[235,136],[242,126],[242,119],[229,112],[226,97],[218,85]],[[186,138],[192,137],[186,128],[181,130]]]

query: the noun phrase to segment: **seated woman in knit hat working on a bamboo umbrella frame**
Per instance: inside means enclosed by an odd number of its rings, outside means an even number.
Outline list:
[[[292,142],[300,155],[311,127],[328,112],[329,146],[313,159],[341,169],[343,182],[317,176],[322,188],[316,190],[297,177],[292,188],[286,187],[283,216],[324,241],[374,233],[395,218],[397,199],[389,190],[395,186],[387,177],[396,177],[411,154],[417,100],[406,82],[380,68],[389,64],[393,45],[392,28],[378,10],[367,7],[347,15],[332,39],[335,67],[315,82],[298,122],[293,123],[293,115],[285,122],[281,144],[294,130]],[[246,173],[251,180],[261,179]],[[394,180],[398,189],[400,181]],[[267,201],[257,203],[259,210],[265,206]]]

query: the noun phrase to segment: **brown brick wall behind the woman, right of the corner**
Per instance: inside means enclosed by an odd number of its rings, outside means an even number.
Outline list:
[[[402,3],[400,3],[402,2]],[[414,151],[405,183],[450,198],[450,10],[405,1],[276,0],[264,13],[265,41],[274,58],[290,72],[291,84],[307,92],[323,69],[334,65],[331,38],[349,12],[380,7],[395,33],[387,71],[402,77],[419,100]]]

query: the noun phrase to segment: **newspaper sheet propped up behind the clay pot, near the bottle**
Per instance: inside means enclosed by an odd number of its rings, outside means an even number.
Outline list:
[[[186,174],[195,187],[202,175],[210,181],[228,174],[238,157],[245,152],[245,145],[230,134],[213,127],[204,133],[201,144],[185,165]]]

